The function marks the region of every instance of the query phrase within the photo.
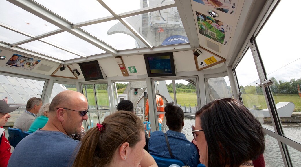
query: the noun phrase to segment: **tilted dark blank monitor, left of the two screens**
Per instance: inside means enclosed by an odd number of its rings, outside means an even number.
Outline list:
[[[104,79],[97,60],[79,63],[78,65],[86,81]]]

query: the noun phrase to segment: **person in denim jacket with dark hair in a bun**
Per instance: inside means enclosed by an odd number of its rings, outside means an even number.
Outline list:
[[[148,150],[151,155],[164,158],[174,158],[183,161],[187,166],[197,166],[199,155],[195,145],[186,139],[182,129],[184,127],[184,112],[174,103],[166,103],[164,108],[166,125],[169,130],[166,133],[154,131],[148,141]],[[166,138],[170,145],[171,153],[167,146]]]

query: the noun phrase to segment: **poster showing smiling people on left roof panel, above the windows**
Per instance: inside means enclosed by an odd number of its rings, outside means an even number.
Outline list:
[[[13,66],[19,67],[26,70],[32,70],[36,67],[36,65],[40,62],[40,60],[34,60],[30,57],[21,56],[19,54],[13,54],[10,59],[8,59],[5,66]]]

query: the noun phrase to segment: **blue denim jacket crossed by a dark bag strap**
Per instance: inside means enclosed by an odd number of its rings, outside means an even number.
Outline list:
[[[184,133],[167,130],[167,139],[172,155],[175,159],[183,161],[185,165],[194,167],[199,163],[199,154],[196,146],[186,139]],[[148,150],[151,155],[158,157],[171,158],[164,133],[154,131],[148,141]]]

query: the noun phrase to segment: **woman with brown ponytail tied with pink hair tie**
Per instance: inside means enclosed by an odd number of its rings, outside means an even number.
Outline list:
[[[73,167],[157,166],[144,145],[141,120],[131,112],[116,112],[87,131]]]

